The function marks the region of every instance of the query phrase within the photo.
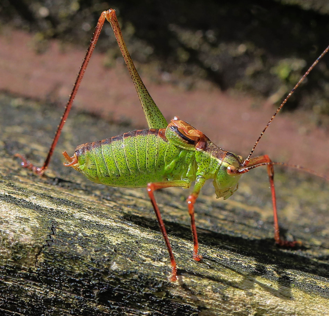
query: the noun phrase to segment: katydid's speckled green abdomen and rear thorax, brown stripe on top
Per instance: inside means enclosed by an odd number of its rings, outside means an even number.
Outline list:
[[[165,129],[124,133],[76,148],[74,169],[91,181],[119,187],[195,178],[194,151],[170,144]]]

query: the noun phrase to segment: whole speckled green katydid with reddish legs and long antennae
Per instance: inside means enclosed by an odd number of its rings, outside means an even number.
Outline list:
[[[281,246],[295,246],[298,242],[285,241],[280,239],[279,236],[273,165],[280,164],[302,169],[316,175],[319,174],[299,166],[272,162],[267,155],[253,158],[252,155],[262,135],[274,119],[275,115],[281,110],[293,91],[314,68],[319,59],[329,50],[329,47],[324,50],[291,90],[289,95],[267,123],[248,157],[243,159],[241,156],[225,151],[216,146],[200,130],[195,129],[190,124],[178,119],[177,117],[174,117],[169,124],[166,122],[164,116],[154,103],[137,73],[122,38],[115,11],[112,9],[104,11],[98,20],[86,57],[81,66],[43,167],[33,166],[30,162],[26,161],[24,157],[17,154],[16,156],[20,157],[23,161],[22,166],[29,168],[39,175],[42,175],[47,169],[105,19],[111,23],[115,38],[135,84],[149,129],[133,131],[110,139],[79,145],[72,157],[64,151],[63,155],[66,160],[64,165],[74,168],[96,183],[118,187],[147,188],[169,252],[172,281],[177,278],[176,262],[153,194],[155,190],[161,188],[176,186],[189,188],[192,182],[195,182],[193,191],[187,199],[187,203],[194,241],[192,256],[194,260],[199,261],[202,256],[198,254],[198,240],[194,222],[194,203],[205,181],[213,179],[216,197],[227,199],[238,189],[238,181],[241,174],[244,174],[253,168],[266,166],[272,194],[275,242]]]

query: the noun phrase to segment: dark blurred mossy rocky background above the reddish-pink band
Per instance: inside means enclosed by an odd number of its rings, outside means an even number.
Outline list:
[[[210,79],[222,90],[278,102],[329,43],[325,0],[3,0],[0,21],[33,32],[39,53],[54,38],[85,48],[100,12],[110,7],[117,10],[133,59],[152,63],[164,81],[186,89],[200,78]],[[105,64],[111,67],[119,51],[109,25],[98,49],[106,52]],[[183,83],[182,75],[188,76]],[[286,109],[309,110],[317,124],[327,122],[322,115],[329,114],[328,77],[323,62]]]

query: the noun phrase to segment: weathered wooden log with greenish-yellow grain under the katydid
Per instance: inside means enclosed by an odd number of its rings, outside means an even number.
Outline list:
[[[179,269],[179,280],[170,282],[167,250],[145,189],[97,185],[60,162],[63,149],[71,153],[78,143],[129,127],[78,113],[49,170],[38,177],[21,169],[13,154],[41,161],[60,111],[5,95],[0,109],[1,315],[328,314],[323,181],[276,176],[282,232],[301,240],[300,249],[274,245],[265,170],[245,175],[240,192],[226,202],[205,188],[196,205],[200,262],[191,259],[183,202],[188,191],[156,192]],[[99,135],[105,129],[109,134]]]

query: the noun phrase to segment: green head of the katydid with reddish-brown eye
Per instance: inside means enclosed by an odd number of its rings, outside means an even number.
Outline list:
[[[216,198],[228,199],[238,190],[238,181],[241,174],[238,170],[243,166],[243,158],[232,152],[227,152],[222,163],[215,173],[213,185]]]

